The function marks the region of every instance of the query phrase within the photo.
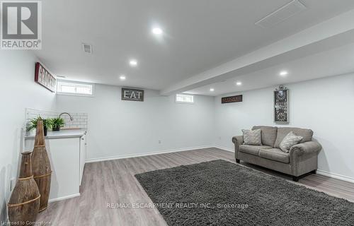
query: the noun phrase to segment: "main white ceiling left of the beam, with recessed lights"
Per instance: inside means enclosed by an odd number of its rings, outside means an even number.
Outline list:
[[[69,80],[163,90],[354,8],[353,0],[301,0],[307,10],[297,16],[270,29],[254,25],[288,2],[42,1],[42,50],[35,54]],[[164,29],[162,40],[151,34],[153,25]],[[92,44],[93,54],[84,53],[81,42]],[[130,58],[139,61],[137,68]]]

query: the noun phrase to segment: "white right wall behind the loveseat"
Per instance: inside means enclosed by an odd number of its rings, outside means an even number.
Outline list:
[[[290,125],[309,128],[323,145],[319,169],[354,179],[354,74],[286,85],[290,88]],[[273,123],[273,90],[242,93],[244,102],[222,105],[215,98],[215,144],[234,149],[241,129]],[[223,95],[227,96],[227,95]]]

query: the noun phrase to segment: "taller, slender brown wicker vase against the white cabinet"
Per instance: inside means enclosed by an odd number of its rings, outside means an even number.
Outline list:
[[[32,153],[33,177],[40,191],[40,212],[48,206],[50,193],[50,179],[52,177],[52,169],[50,161],[45,149],[45,138],[43,131],[43,121],[37,122],[35,132],[35,147]]]

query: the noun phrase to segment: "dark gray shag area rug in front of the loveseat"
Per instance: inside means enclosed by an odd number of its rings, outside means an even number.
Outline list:
[[[168,225],[354,225],[354,203],[224,160],[135,177]]]

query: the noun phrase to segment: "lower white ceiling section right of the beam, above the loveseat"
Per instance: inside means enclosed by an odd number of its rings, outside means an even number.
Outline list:
[[[341,75],[354,71],[353,62],[354,44],[348,44],[309,57],[289,61],[285,64],[235,76],[226,81],[205,85],[185,93],[216,96]],[[287,76],[280,76],[280,71],[287,71]],[[240,81],[242,85],[236,85],[237,81]],[[214,92],[210,92],[210,88],[214,88]]]

